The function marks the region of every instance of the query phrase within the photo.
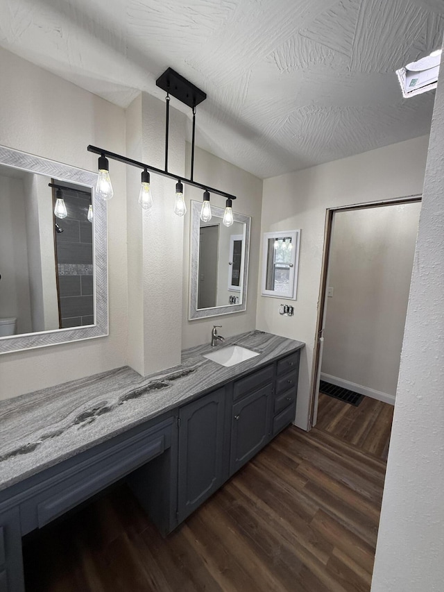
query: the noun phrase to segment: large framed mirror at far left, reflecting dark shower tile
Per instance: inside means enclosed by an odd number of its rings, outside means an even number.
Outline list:
[[[0,353],[108,335],[97,174],[0,146]]]

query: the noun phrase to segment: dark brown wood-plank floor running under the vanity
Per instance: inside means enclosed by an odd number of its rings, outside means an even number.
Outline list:
[[[26,591],[369,591],[385,444],[325,403],[320,427],[284,430],[167,539],[124,484],[31,535]]]

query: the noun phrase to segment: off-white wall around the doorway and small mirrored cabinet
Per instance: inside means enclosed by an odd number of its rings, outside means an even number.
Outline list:
[[[321,164],[264,181],[262,232],[301,228],[294,316],[281,316],[277,298],[258,296],[257,328],[305,341],[296,425],[307,429],[309,386],[323,255],[325,211],[341,205],[420,194],[428,137]],[[260,281],[260,278],[259,278]],[[259,290],[260,293],[260,290]]]

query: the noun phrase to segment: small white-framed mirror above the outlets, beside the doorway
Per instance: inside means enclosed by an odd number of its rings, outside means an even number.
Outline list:
[[[296,300],[300,230],[265,232],[262,296]]]

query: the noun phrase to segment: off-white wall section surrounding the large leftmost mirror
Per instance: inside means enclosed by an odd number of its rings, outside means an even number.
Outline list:
[[[0,144],[96,171],[88,144],[125,152],[121,108],[0,49]],[[126,175],[113,162],[108,205],[110,335],[0,356],[0,398],[126,364]]]

